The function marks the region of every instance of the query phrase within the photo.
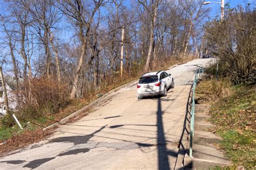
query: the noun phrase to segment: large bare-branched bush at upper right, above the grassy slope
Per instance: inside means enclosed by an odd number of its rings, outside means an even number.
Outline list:
[[[256,11],[246,9],[232,9],[223,22],[206,26],[206,48],[218,56],[235,84],[245,82],[255,70]]]

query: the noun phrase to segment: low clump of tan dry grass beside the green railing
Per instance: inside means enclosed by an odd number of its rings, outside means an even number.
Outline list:
[[[199,82],[196,88],[196,98],[199,103],[215,102],[231,94],[231,81],[229,79],[210,79]]]

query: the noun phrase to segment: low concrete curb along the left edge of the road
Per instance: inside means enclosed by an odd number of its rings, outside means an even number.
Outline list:
[[[178,66],[180,63],[183,64],[183,63],[186,63],[186,62],[188,62],[188,61],[191,61],[191,59],[190,59],[190,60],[181,61],[181,62],[177,63],[176,65],[173,65],[173,66],[171,66],[171,67],[167,67],[167,69],[171,69],[171,68],[173,68],[173,67]],[[113,89],[113,90],[110,90],[109,92],[107,92],[106,94],[104,94],[102,97],[97,98],[95,101],[93,101],[93,102],[91,102],[90,104],[86,105],[84,108],[82,108],[82,109],[80,109],[80,110],[78,110],[78,111],[76,111],[76,112],[73,112],[73,114],[71,114],[71,115],[69,115],[69,116],[67,116],[67,117],[65,117],[65,118],[63,118],[63,119],[61,119],[61,120],[60,120],[59,122],[57,122],[57,123],[54,123],[54,124],[52,124],[52,125],[47,126],[47,127],[44,128],[43,130],[48,130],[48,129],[51,129],[51,128],[55,128],[55,127],[58,126],[58,125],[63,125],[64,123],[68,122],[68,119],[70,119],[70,118],[72,118],[72,117],[74,117],[74,116],[77,116],[77,115],[81,114],[81,113],[84,112],[86,109],[90,108],[90,107],[91,107],[92,105],[94,105],[94,104],[97,104],[97,103],[103,101],[104,98],[106,98],[107,96],[109,96],[109,95],[111,95],[112,93],[116,92],[117,90],[122,89],[122,88],[124,88],[124,87],[126,87],[126,86],[129,86],[130,84],[135,83],[135,82],[137,82],[137,81],[138,81],[138,80],[133,80],[133,81],[130,81],[130,82],[128,82],[128,83],[125,83],[124,85],[119,86],[119,87],[117,87],[117,88],[115,88],[115,89]]]

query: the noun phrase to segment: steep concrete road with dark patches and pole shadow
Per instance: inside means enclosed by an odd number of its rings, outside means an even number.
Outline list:
[[[175,87],[166,97],[137,99],[129,84],[79,121],[47,140],[0,158],[0,169],[176,169],[178,143],[197,59],[167,70]],[[181,155],[182,156],[182,155]],[[178,157],[178,159],[177,159]]]

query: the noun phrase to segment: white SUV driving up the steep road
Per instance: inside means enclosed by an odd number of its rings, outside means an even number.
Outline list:
[[[174,88],[171,74],[164,71],[143,74],[137,84],[138,99],[144,96],[167,95],[167,89]]]

